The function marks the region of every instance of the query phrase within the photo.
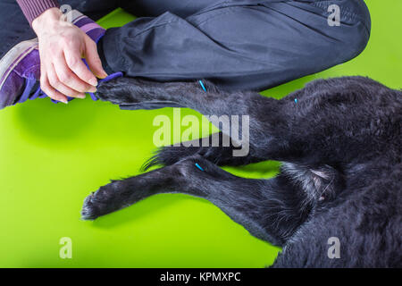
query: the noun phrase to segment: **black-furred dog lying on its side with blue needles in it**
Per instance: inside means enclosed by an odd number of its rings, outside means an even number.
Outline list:
[[[274,267],[402,266],[401,91],[363,77],[315,80],[281,100],[205,87],[121,78],[97,96],[129,109],[247,114],[248,156],[233,157],[232,146],[163,147],[147,165],[163,168],[100,188],[86,199],[84,219],[180,192],[206,198],[281,246]],[[244,179],[217,166],[263,160],[283,162],[280,174]],[[339,238],[340,258],[327,255],[331,237]]]

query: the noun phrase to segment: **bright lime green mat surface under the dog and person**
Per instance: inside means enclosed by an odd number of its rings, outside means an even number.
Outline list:
[[[317,78],[364,75],[401,88],[402,2],[367,0],[372,36],[362,55],[318,74],[264,91],[283,97]],[[100,23],[121,26],[117,11]],[[139,173],[150,156],[157,114],[121,111],[86,100],[48,98],[0,111],[0,267],[263,267],[279,248],[257,240],[216,206],[185,195],[158,195],[95,222],[80,220],[90,191]],[[197,114],[188,109],[182,114]],[[197,114],[199,116],[199,114]],[[267,178],[276,163],[225,168]],[[59,257],[70,237],[72,258]]]

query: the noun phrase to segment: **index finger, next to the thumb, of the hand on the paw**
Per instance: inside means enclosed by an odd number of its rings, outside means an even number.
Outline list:
[[[95,75],[88,70],[88,67],[81,60],[81,53],[77,47],[69,47],[64,49],[65,62],[80,80],[84,80],[88,84],[96,87],[97,80]]]

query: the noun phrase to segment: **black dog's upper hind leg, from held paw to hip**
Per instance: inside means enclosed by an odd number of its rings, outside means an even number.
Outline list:
[[[203,84],[206,92],[198,81],[161,83],[120,78],[100,84],[97,96],[122,107],[155,101],[205,115],[248,116],[247,156],[304,165],[363,160],[370,150],[392,148],[379,146],[373,137],[389,134],[400,123],[398,112],[389,116],[385,105],[385,101],[392,105],[398,97],[383,97],[384,103],[373,104],[379,94],[394,91],[360,77],[315,80],[281,100],[255,92],[225,92],[208,81]],[[373,114],[378,115],[376,119]]]

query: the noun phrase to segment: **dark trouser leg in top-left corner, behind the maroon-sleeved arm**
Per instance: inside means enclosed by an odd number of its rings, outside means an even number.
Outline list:
[[[72,9],[77,9],[94,20],[117,8],[117,1],[111,0],[59,0],[59,3],[70,4]],[[0,58],[21,41],[37,37],[15,0],[0,0],[0,26]]]

